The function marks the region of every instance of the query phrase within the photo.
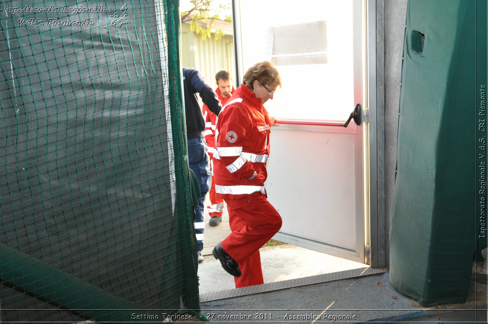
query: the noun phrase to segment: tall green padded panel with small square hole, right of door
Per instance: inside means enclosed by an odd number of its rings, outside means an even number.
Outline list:
[[[389,276],[423,305],[465,301],[476,249],[475,10],[407,6]]]

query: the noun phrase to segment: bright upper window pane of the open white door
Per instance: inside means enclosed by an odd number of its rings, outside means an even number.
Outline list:
[[[355,105],[352,1],[239,2],[244,72],[272,61],[283,80],[269,113],[346,120]]]

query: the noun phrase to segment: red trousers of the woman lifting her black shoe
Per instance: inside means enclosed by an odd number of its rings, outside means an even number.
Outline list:
[[[262,195],[225,203],[232,233],[222,241],[222,247],[239,263],[242,276],[234,277],[236,288],[263,284],[259,249],[280,230],[281,216]]]

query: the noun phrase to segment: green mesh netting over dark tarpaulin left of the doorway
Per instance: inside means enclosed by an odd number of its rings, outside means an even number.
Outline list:
[[[198,310],[179,1],[0,5],[0,321]]]

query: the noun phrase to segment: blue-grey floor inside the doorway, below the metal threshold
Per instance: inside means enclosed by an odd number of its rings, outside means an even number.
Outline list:
[[[424,307],[395,290],[385,272],[209,301],[201,307],[217,323],[487,323],[487,304],[487,285],[471,282],[466,303]],[[483,310],[474,312],[476,307]]]

